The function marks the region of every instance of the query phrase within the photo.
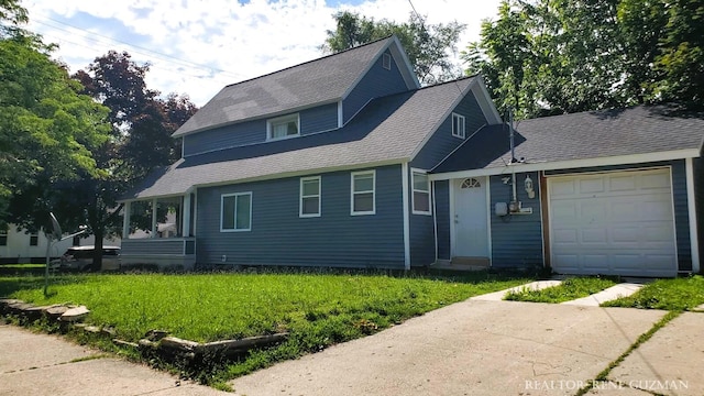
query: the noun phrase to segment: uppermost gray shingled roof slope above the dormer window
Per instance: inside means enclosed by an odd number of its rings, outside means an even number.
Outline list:
[[[340,100],[395,41],[392,36],[227,86],[173,136]]]

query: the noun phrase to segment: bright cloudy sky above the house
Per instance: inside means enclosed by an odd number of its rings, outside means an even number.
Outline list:
[[[22,0],[28,30],[58,44],[69,72],[110,50],[127,51],[163,95],[187,95],[202,107],[222,87],[323,56],[333,14],[358,12],[405,22],[418,12],[431,24],[466,24],[458,50],[479,40],[499,0]]]

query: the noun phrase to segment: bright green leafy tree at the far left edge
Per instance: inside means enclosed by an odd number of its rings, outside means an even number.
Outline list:
[[[109,139],[108,109],[51,50],[35,35],[0,38],[0,219],[31,231],[47,226],[58,185],[107,176],[92,152]]]

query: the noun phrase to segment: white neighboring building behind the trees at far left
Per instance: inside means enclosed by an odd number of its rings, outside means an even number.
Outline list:
[[[58,257],[70,246],[92,245],[95,237],[69,238],[67,240],[52,243],[50,255]],[[120,246],[121,239],[103,239],[103,245]],[[8,231],[0,231],[0,264],[2,263],[43,263],[46,260],[46,235],[40,231],[35,234],[25,233],[10,224]]]

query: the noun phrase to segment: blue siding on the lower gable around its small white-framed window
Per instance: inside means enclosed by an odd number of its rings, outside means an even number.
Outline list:
[[[440,128],[433,132],[418,155],[411,161],[410,166],[420,169],[432,169],[452,153],[454,148],[464,143],[466,139],[487,123],[472,91],[462,99],[453,112],[464,116],[465,118],[465,139],[459,139],[452,135],[452,116],[450,114]]]

